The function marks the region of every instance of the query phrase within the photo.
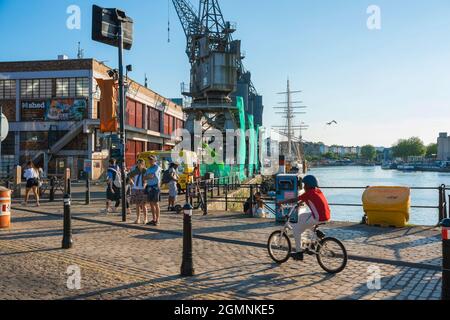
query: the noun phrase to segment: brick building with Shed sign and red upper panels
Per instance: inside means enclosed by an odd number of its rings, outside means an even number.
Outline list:
[[[78,177],[85,160],[91,160],[92,178],[102,176],[111,139],[99,130],[101,91],[96,79],[111,79],[109,70],[94,59],[0,62],[0,105],[10,122],[2,143],[3,173],[34,160],[49,174],[70,168]],[[127,166],[139,152],[171,149],[170,135],[184,126],[180,105],[129,83]]]

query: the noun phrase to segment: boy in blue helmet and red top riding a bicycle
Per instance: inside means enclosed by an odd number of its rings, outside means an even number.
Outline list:
[[[303,184],[305,185],[305,193],[298,198],[279,202],[280,205],[300,202],[300,204],[306,204],[311,211],[299,213],[298,222],[292,224],[296,252],[292,253],[291,256],[295,260],[303,260],[302,233],[322,222],[328,222],[331,218],[328,201],[319,189],[317,178],[311,175],[306,176],[303,178]]]

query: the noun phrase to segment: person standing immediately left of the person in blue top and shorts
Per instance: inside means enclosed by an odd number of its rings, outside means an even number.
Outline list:
[[[145,194],[145,175],[147,168],[145,162],[142,159],[137,161],[136,167],[130,173],[131,183],[133,185],[131,189],[131,203],[136,205],[137,219],[135,224],[141,223],[141,212],[144,213],[144,224],[148,223],[147,218],[147,195]]]

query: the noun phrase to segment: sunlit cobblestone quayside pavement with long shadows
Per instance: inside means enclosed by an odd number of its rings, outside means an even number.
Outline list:
[[[16,205],[18,206],[18,205]],[[74,203],[74,248],[61,250],[62,204],[13,211],[0,231],[0,299],[439,299],[439,230],[332,223],[347,268],[328,275],[315,258],[279,266],[267,254],[273,221],[231,213],[193,217],[196,276],[179,276],[182,217],[163,212],[158,228],[99,214],[102,202]],[[19,206],[20,207],[20,206]],[[130,221],[134,221],[134,216]],[[81,289],[68,289],[68,267]],[[380,289],[368,286],[380,275]]]

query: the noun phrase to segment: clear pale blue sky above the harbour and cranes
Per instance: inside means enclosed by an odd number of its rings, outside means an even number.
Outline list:
[[[190,0],[198,7],[198,0]],[[0,0],[0,61],[86,58],[117,66],[115,48],[91,40],[91,7],[118,7],[135,22],[125,62],[132,77],[169,97],[189,82],[186,39],[168,0]],[[169,5],[170,4],[170,5]],[[308,106],[296,124],[307,141],[391,146],[400,138],[436,142],[450,132],[450,1],[448,0],[220,0],[237,23],[244,64],[264,97],[264,126],[284,124],[273,107],[287,79]],[[67,8],[81,9],[71,30]],[[369,29],[371,5],[381,29]],[[168,42],[170,20],[170,42]],[[327,126],[336,120],[338,125]]]

